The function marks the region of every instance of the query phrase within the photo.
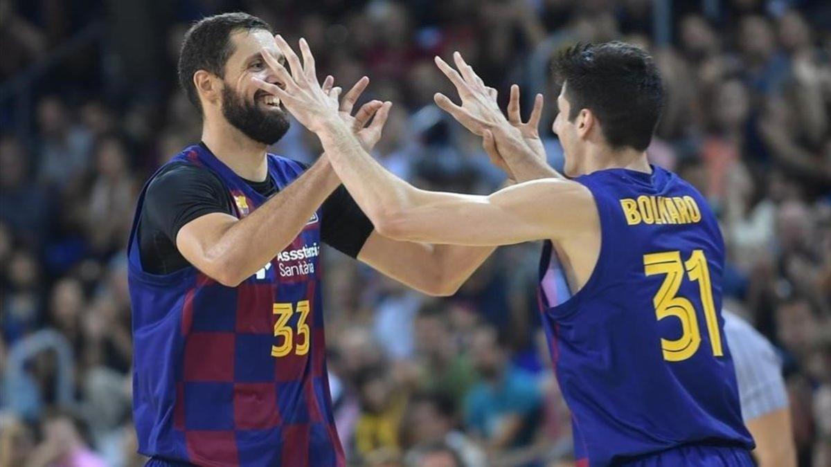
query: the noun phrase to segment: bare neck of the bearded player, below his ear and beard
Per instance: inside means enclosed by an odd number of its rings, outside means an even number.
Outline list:
[[[227,123],[202,127],[202,142],[217,159],[243,179],[259,182],[268,176],[267,145],[248,138]]]

